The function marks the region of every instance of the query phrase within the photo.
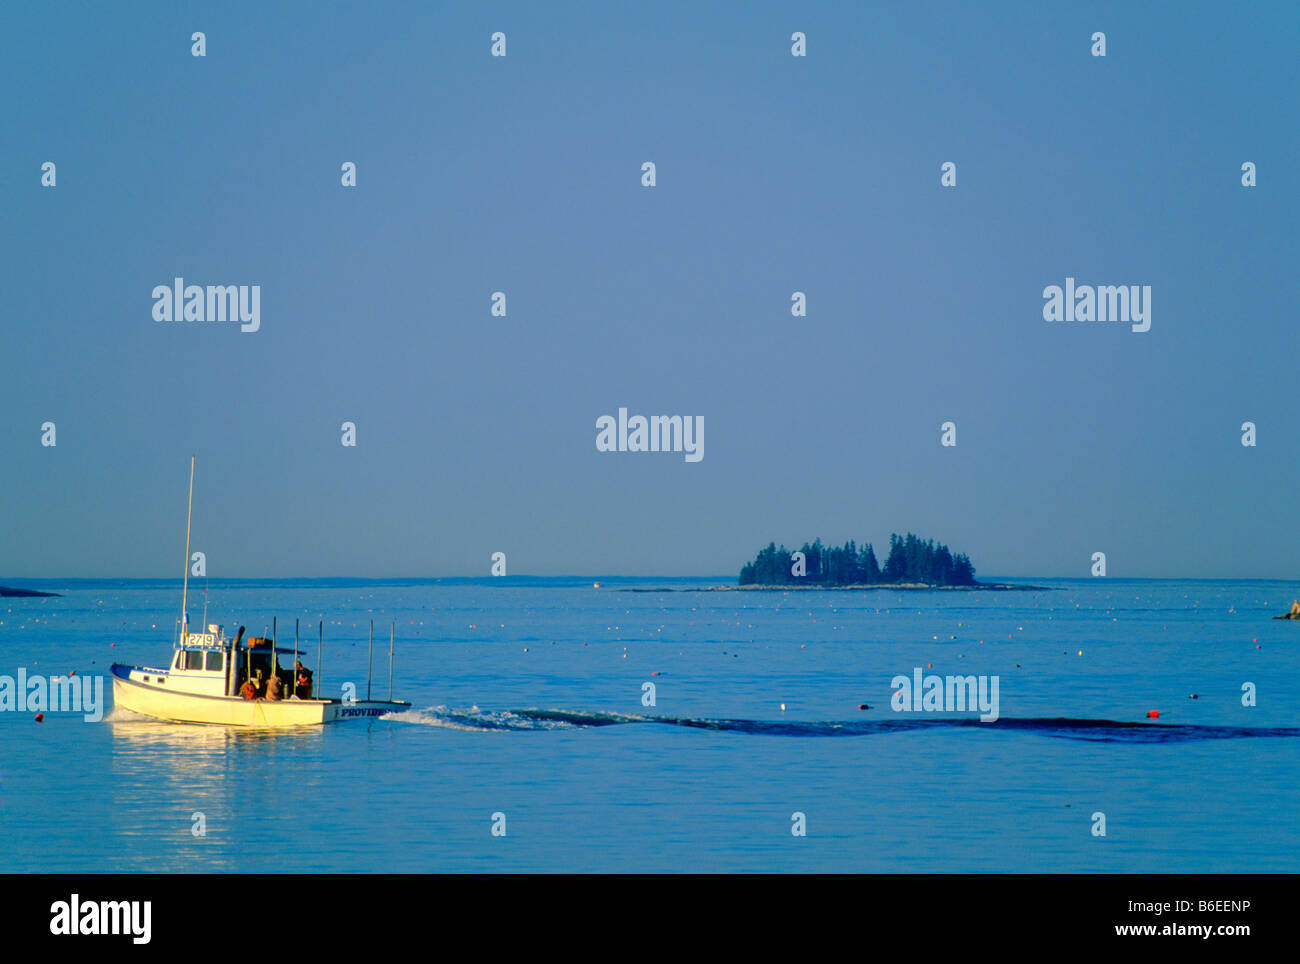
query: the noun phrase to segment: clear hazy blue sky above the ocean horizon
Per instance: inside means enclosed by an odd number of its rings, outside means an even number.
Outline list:
[[[195,455],[213,577],[1300,577],[1300,8],[1131,6],[4,5],[0,576],[178,574]],[[261,330],[155,322],[177,275]]]

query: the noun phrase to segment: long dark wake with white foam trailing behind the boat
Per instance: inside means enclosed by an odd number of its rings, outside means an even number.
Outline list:
[[[1295,726],[1204,726],[1197,724],[1150,724],[1122,720],[1080,720],[1070,717],[1002,717],[980,722],[975,717],[900,717],[797,722],[784,720],[710,720],[681,716],[642,716],[569,709],[408,709],[387,713],[384,720],[424,726],[443,726],[471,731],[569,730],[593,726],[650,724],[697,730],[718,730],[760,737],[870,737],[915,730],[967,729],[992,733],[1023,731],[1057,739],[1083,739],[1102,743],[1188,743],[1205,739],[1244,739],[1249,737],[1300,737]]]

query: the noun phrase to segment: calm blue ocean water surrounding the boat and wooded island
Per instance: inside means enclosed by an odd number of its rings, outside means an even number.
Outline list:
[[[396,622],[413,709],[302,733],[0,713],[0,872],[1300,870],[1300,622],[1270,618],[1295,583],[681,591],[723,581],[200,581],[195,628],[204,599],[281,644],[300,618],[313,668],[324,620],[330,695],[364,695],[372,618],[386,695]],[[65,595],[0,599],[0,674],[170,656],[172,581],[14,583]],[[619,591],[656,586],[679,591]],[[998,676],[1002,720],[898,726],[937,718],[889,708],[916,666]],[[1174,729],[1043,722],[1149,709]]]

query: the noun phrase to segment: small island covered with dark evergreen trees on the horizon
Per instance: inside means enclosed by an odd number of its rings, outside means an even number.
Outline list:
[[[889,537],[884,565],[871,543],[858,548],[823,546],[820,539],[798,550],[767,543],[740,570],[738,589],[1037,589],[975,581],[975,566],[965,552],[953,552],[913,533]]]

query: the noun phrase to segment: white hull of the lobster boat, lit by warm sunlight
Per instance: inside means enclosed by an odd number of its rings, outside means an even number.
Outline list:
[[[113,666],[113,704],[155,720],[214,726],[320,726],[339,720],[382,716],[410,709],[404,700],[243,699],[209,696],[130,678],[130,666]]]

